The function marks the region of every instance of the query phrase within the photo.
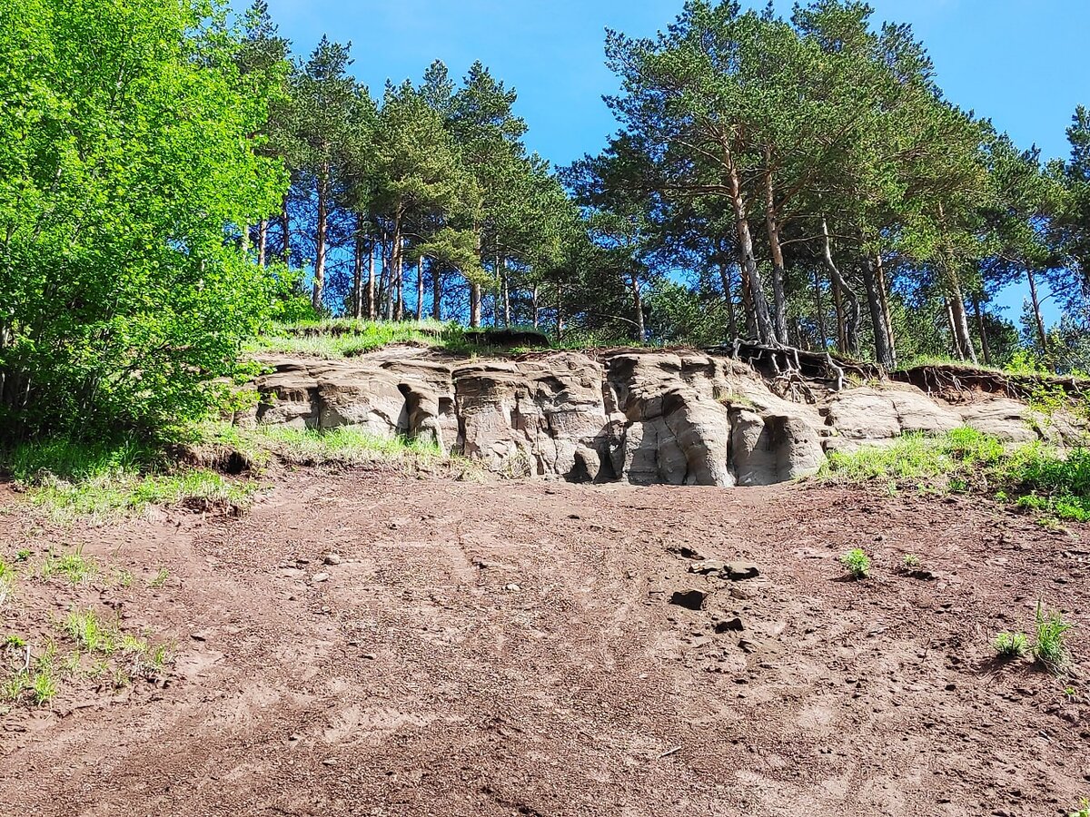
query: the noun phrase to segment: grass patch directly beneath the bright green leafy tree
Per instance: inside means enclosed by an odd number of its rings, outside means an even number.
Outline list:
[[[0,454],[0,470],[26,487],[31,501],[57,521],[110,519],[153,504],[190,501],[245,507],[256,491],[251,483],[207,468],[174,467],[135,438],[111,443],[34,440]]]

